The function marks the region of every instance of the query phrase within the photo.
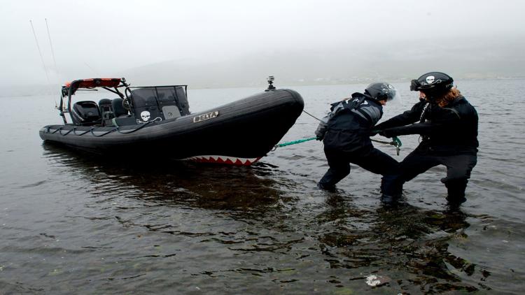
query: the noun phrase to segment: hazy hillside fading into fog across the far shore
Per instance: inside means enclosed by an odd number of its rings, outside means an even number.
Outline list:
[[[116,69],[132,85],[187,84],[202,87],[265,87],[268,75],[276,85],[311,85],[409,80],[426,71],[445,71],[454,78],[525,77],[525,38],[463,38],[413,43],[356,42],[325,50],[280,50],[240,55],[216,62],[181,58]],[[145,55],[147,52],[144,53]],[[78,75],[72,77],[78,78]],[[92,77],[83,77],[92,78]],[[67,78],[71,80],[71,78]],[[0,96],[57,93],[59,85],[3,87]]]

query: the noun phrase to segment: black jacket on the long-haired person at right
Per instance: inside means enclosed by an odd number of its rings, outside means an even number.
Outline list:
[[[378,124],[374,129],[382,130],[386,136],[421,134],[423,139],[419,147],[436,152],[475,153],[479,145],[477,120],[475,108],[464,97],[443,108],[421,100],[411,110]]]

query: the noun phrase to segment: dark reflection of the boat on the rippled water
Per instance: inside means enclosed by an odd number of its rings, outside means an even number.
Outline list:
[[[126,196],[162,205],[251,210],[274,206],[283,197],[279,177],[267,178],[272,168],[202,164],[189,161],[99,158],[95,154],[43,143],[44,157],[61,173],[89,182],[92,196]],[[66,169],[64,172],[63,170]],[[80,173],[79,173],[80,172]]]

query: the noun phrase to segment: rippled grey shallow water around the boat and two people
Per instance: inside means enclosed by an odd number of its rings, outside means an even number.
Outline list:
[[[523,82],[458,81],[478,110],[481,144],[459,210],[444,200],[443,167],[384,208],[379,176],[359,167],[336,193],[316,189],[327,169],[318,141],[251,167],[150,160],[155,150],[101,160],[42,143],[38,129],[60,122],[54,97],[0,98],[0,294],[521,294]],[[364,87],[290,88],[322,117]],[[190,110],[260,90],[190,89]],[[385,118],[416,101],[402,96]],[[281,142],[316,125],[303,114]],[[377,147],[401,160],[418,138],[401,139],[399,157]]]

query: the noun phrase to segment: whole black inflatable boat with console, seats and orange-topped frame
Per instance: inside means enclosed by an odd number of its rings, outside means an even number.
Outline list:
[[[190,113],[187,85],[131,87],[124,78],[75,80],[62,86],[58,109],[64,124],[43,127],[40,137],[109,156],[250,165],[272,150],[304,107],[300,94],[269,83],[265,92]],[[118,97],[72,104],[79,89],[105,89]]]

